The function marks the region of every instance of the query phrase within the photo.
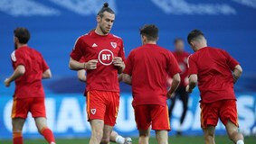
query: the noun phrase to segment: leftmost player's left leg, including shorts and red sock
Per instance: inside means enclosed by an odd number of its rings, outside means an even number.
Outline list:
[[[13,126],[13,143],[23,144],[23,127],[24,121],[29,111],[30,99],[20,99],[14,97],[12,108],[12,126]]]

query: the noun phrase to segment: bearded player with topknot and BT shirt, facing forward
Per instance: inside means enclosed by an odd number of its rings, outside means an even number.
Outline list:
[[[87,113],[90,144],[109,143],[119,111],[118,73],[125,68],[123,40],[111,33],[115,13],[105,3],[97,15],[97,27],[75,42],[69,67],[86,69]],[[86,62],[79,62],[81,58]]]

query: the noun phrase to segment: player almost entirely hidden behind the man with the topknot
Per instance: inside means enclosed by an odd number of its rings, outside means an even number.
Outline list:
[[[80,61],[82,62],[83,60],[80,60]],[[86,77],[85,69],[79,70],[77,75],[78,75],[78,78],[81,82],[86,82],[87,77]],[[119,81],[121,80],[120,77],[121,76],[119,76]],[[129,138],[129,137],[124,138],[124,137],[120,136],[119,133],[115,130],[112,130],[112,132],[110,133],[110,139],[109,140],[111,142],[117,142],[119,144],[131,144],[132,143],[131,138]]]

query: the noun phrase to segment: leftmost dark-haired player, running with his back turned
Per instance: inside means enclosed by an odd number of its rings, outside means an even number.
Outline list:
[[[47,127],[42,79],[52,76],[40,52],[28,47],[30,32],[25,28],[14,30],[14,52],[11,55],[14,73],[5,79],[5,86],[15,81],[12,110],[13,143],[23,144],[22,130],[28,112],[36,127],[49,144],[55,144],[52,130]]]

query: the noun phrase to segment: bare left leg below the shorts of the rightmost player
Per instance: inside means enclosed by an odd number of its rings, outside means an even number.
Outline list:
[[[204,143],[205,144],[215,144],[214,141],[214,126],[207,126],[204,130]]]

